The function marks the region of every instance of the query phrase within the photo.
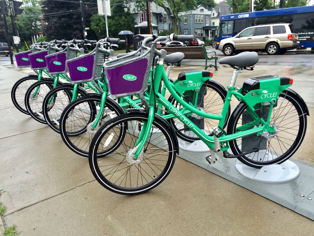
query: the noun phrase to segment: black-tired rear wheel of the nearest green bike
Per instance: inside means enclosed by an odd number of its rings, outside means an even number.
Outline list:
[[[270,124],[277,126],[278,133],[273,138],[257,136],[256,134],[229,141],[230,149],[233,154],[240,155],[243,152],[258,148],[258,152],[243,155],[238,158],[242,163],[254,168],[262,168],[266,165],[280,164],[288,160],[300,147],[306,133],[306,114],[304,114],[299,99],[283,91],[273,107]],[[267,120],[269,106],[261,105],[261,116]],[[237,127],[242,124],[252,123],[253,118],[246,112],[246,104],[240,103],[233,114],[230,116],[227,133],[232,134],[237,131]],[[242,118],[241,118],[242,116]],[[251,129],[249,127],[247,129]],[[247,130],[246,129],[246,130]],[[266,135],[266,134],[265,134]],[[245,142],[245,145],[243,143]],[[244,148],[242,148],[244,147]],[[270,156],[271,155],[271,156]]]

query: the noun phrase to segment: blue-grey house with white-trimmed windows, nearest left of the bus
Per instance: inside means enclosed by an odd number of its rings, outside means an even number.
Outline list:
[[[202,39],[203,37],[211,38],[211,30],[215,29],[212,26],[212,10],[206,8],[204,5],[198,5],[195,9],[180,12],[180,33],[184,35],[191,35],[195,33],[196,37]]]

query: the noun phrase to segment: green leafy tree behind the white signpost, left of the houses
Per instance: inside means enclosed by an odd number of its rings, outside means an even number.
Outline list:
[[[117,4],[121,3],[121,4]],[[111,1],[111,16],[107,17],[108,20],[108,33],[110,37],[118,37],[118,33],[122,30],[134,31],[134,26],[136,25],[135,18],[133,15],[127,10],[124,2],[121,0]],[[106,22],[105,17],[100,16],[98,14],[94,14],[91,17],[91,29],[98,32],[101,29],[100,37],[107,37],[106,35]]]

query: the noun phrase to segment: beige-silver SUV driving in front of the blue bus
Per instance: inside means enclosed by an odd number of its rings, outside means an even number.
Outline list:
[[[248,27],[234,37],[221,40],[219,50],[226,56],[243,51],[266,51],[268,55],[275,55],[294,49],[299,44],[292,24],[277,23]]]

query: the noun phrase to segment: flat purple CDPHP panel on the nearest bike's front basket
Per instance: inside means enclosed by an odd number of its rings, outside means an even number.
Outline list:
[[[148,59],[142,58],[116,68],[105,69],[110,94],[117,97],[138,94],[145,82],[147,65]]]

